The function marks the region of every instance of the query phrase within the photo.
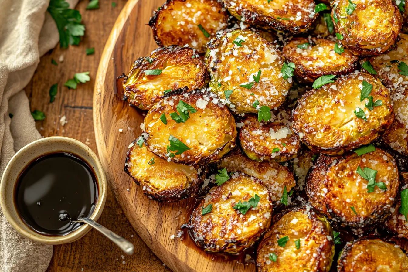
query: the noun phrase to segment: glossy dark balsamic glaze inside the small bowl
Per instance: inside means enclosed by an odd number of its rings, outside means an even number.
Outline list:
[[[73,221],[92,214],[98,201],[98,182],[92,168],[77,155],[50,153],[22,170],[14,199],[29,228],[62,236],[81,226]]]

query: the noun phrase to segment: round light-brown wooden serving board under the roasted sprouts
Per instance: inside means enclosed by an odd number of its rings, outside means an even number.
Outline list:
[[[126,217],[143,241],[175,272],[254,272],[255,264],[243,265],[206,254],[189,237],[170,239],[186,223],[194,199],[175,203],[157,202],[143,194],[124,172],[128,146],[139,137],[145,112],[122,100],[122,80],[138,58],[157,48],[147,22],[164,0],[129,0],[106,42],[95,78],[93,124],[96,144],[106,177]],[[119,129],[123,129],[120,133]],[[128,129],[130,128],[130,129]],[[186,235],[184,235],[186,236]],[[136,249],[137,252],[137,249]]]

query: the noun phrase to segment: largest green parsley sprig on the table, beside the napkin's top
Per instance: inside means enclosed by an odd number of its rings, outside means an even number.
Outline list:
[[[80,36],[83,36],[85,31],[85,26],[81,24],[79,11],[70,9],[65,0],[51,0],[47,11],[57,25],[60,46],[67,48],[69,44],[78,45]]]

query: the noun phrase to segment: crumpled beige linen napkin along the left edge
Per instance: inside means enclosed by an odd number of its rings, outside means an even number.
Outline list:
[[[67,0],[71,8],[78,0]],[[1,0],[0,10],[0,174],[14,153],[41,137],[31,117],[27,95],[40,56],[59,40],[49,0]],[[48,90],[43,90],[47,92]],[[9,117],[9,113],[13,117]],[[44,272],[51,245],[18,234],[0,210],[0,272]]]

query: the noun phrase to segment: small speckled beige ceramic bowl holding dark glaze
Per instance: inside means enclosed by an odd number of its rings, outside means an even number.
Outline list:
[[[105,173],[98,157],[95,155],[95,153],[93,153],[91,148],[85,144],[82,144],[78,140],[67,137],[46,137],[24,146],[18,150],[16,155],[11,158],[9,164],[7,164],[0,184],[0,205],[10,225],[20,234],[29,239],[52,245],[70,243],[78,240],[89,232],[91,227],[88,225],[83,225],[64,236],[47,236],[35,232],[24,224],[17,213],[16,206],[14,204],[14,188],[18,175],[30,161],[40,157],[41,155],[58,151],[65,151],[79,155],[89,164],[89,166],[93,168],[98,180],[99,199],[96,203],[93,214],[89,218],[95,221],[98,220],[106,200],[107,184]]]

